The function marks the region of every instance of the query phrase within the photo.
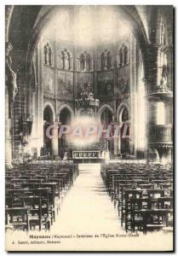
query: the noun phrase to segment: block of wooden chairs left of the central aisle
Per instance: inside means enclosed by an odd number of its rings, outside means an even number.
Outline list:
[[[24,164],[6,172],[5,222],[9,228],[49,230],[78,166]]]

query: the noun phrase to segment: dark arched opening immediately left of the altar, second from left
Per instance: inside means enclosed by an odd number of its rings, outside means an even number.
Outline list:
[[[69,108],[62,108],[62,110],[59,113],[59,120],[61,125],[70,125],[72,122],[72,113]],[[66,135],[62,135],[62,137],[58,138],[58,152],[60,155],[60,158],[64,158],[65,152],[67,152],[67,158],[72,156],[72,151],[69,149],[69,145],[67,143]]]

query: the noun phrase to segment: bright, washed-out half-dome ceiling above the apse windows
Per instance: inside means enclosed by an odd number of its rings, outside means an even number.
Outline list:
[[[56,11],[45,32],[75,45],[95,47],[96,44],[116,42],[127,35],[130,25],[120,19],[122,10],[112,6],[68,6]]]

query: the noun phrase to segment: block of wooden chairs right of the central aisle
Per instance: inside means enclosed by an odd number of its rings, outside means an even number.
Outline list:
[[[173,171],[170,166],[102,165],[101,176],[126,231],[146,233],[173,226]]]

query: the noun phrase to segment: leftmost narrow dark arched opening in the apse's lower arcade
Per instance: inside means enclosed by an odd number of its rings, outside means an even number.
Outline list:
[[[54,121],[53,111],[47,106],[43,111],[43,149],[41,155],[52,155],[52,141],[47,136],[47,129],[49,125],[52,125]]]

